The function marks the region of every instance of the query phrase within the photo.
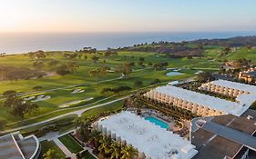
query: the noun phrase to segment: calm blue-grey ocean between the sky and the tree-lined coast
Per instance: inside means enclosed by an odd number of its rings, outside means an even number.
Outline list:
[[[239,35],[256,35],[256,32],[0,34],[0,53],[21,54],[36,50],[75,51],[85,46],[104,50],[108,47],[118,48],[141,43],[180,42]]]

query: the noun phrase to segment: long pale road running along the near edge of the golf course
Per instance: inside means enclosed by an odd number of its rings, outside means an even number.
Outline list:
[[[58,115],[58,116],[55,116],[55,117],[52,117],[52,118],[49,118],[49,119],[46,119],[45,121],[42,121],[42,122],[37,122],[35,124],[27,124],[25,126],[20,126],[20,127],[16,127],[14,129],[9,129],[9,130],[6,130],[6,131],[2,131],[0,133],[9,133],[9,132],[15,132],[15,131],[19,131],[19,130],[22,130],[22,129],[26,129],[26,128],[29,128],[29,127],[32,127],[32,126],[36,126],[36,125],[39,125],[39,124],[46,124],[48,122],[51,122],[53,120],[56,120],[56,119],[59,119],[61,117],[65,117],[69,114],[77,114],[78,116],[81,116],[81,114],[83,114],[84,112],[90,110],[90,109],[94,109],[94,108],[97,108],[97,107],[101,107],[101,106],[105,106],[107,104],[114,104],[118,101],[121,101],[121,100],[124,100],[124,99],[127,99],[128,96],[125,96],[125,97],[121,97],[121,98],[118,98],[118,99],[115,99],[113,101],[110,101],[110,102],[107,102],[107,103],[104,103],[104,104],[97,104],[95,106],[91,106],[91,107],[87,107],[87,108],[84,108],[84,109],[80,109],[80,110],[77,110],[77,111],[74,111],[74,112],[70,112],[70,113],[67,113],[67,114],[61,114],[61,115]]]

